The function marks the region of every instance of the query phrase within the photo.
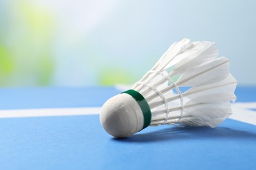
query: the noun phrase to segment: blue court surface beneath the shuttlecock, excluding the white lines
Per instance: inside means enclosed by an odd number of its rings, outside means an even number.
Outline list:
[[[100,107],[113,87],[2,88],[0,109]],[[256,87],[238,87],[255,102]],[[256,114],[256,112],[255,112]],[[0,118],[0,169],[256,169],[256,126],[227,119],[210,127],[147,127],[127,139],[98,115]]]

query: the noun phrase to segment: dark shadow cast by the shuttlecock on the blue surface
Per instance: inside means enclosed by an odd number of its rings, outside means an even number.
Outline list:
[[[193,139],[247,139],[256,140],[256,133],[230,129],[228,127],[167,127],[165,129],[135,134],[119,142],[150,143],[156,141],[193,140]]]

